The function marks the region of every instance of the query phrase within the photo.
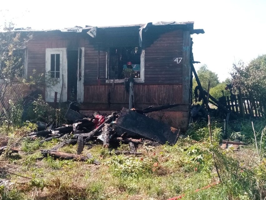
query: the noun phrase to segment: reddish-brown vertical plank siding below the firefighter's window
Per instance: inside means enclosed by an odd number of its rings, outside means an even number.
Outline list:
[[[135,84],[135,103],[141,104],[166,104],[182,103],[181,84]],[[84,103],[126,103],[129,94],[124,84],[85,85]]]

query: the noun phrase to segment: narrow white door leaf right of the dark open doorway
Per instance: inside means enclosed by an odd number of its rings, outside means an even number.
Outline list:
[[[84,47],[78,50],[78,70],[77,70],[77,102],[84,100]]]

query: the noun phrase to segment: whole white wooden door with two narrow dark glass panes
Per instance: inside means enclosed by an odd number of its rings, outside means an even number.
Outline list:
[[[46,49],[45,70],[46,76],[45,101],[67,101],[67,57],[66,48]],[[57,94],[57,95],[55,95]]]

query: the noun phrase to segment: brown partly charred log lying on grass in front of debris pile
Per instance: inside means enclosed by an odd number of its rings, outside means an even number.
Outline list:
[[[81,156],[78,154],[73,154],[73,153],[65,153],[65,152],[61,152],[61,151],[57,151],[57,150],[41,150],[41,153],[44,156],[53,156],[55,158],[63,158],[66,160],[76,160],[76,161],[87,161],[91,158],[87,157],[87,156]]]

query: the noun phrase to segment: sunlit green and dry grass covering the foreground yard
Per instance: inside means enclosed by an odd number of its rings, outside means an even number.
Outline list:
[[[257,132],[264,121],[257,121]],[[249,126],[249,125],[245,125]],[[15,184],[11,190],[0,189],[0,199],[85,200],[85,199],[168,199],[185,195],[183,199],[259,199],[266,193],[266,159],[259,157],[254,146],[241,151],[223,151],[218,146],[222,136],[219,124],[213,123],[214,142],[210,145],[206,124],[191,126],[190,137],[173,145],[157,147],[139,146],[141,156],[110,155],[110,149],[102,145],[84,148],[83,154],[91,153],[101,162],[100,166],[89,162],[59,160],[51,156],[41,157],[41,148],[51,148],[58,140],[45,142],[22,141],[19,155],[7,157],[10,170],[32,177],[23,179],[9,176],[11,181],[29,181]],[[248,128],[248,127],[247,127]],[[255,129],[256,129],[255,128]],[[262,130],[261,129],[261,130]],[[232,130],[232,129],[231,129]],[[234,132],[233,132],[234,134]],[[197,141],[193,140],[196,139]],[[121,145],[119,151],[128,150]],[[76,145],[68,145],[60,151],[76,153]],[[205,190],[195,190],[218,181],[212,151],[219,165],[222,182]],[[255,153],[254,153],[255,152]],[[254,154],[254,155],[253,155]],[[241,169],[239,168],[241,167]],[[0,174],[1,178],[1,174]],[[37,196],[38,191],[38,196]],[[34,192],[34,197],[31,197]]]

